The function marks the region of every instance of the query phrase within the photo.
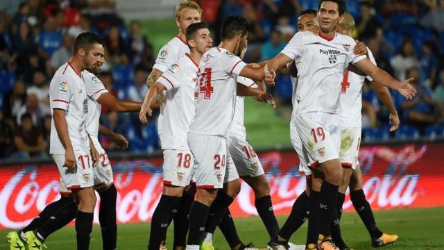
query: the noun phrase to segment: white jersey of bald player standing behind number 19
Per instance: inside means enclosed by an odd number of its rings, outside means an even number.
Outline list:
[[[368,58],[376,65],[375,58],[370,49],[368,49]],[[339,124],[341,126],[361,128],[362,85],[364,84],[365,78],[367,78],[368,81],[373,81],[370,76],[359,76],[359,74],[348,70],[345,71],[340,97]]]

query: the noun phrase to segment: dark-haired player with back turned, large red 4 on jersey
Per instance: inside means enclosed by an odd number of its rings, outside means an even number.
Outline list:
[[[264,78],[261,68],[246,65],[238,56],[247,40],[242,17],[228,17],[221,26],[221,44],[203,54],[196,89],[196,114],[189,127],[188,145],[195,159],[196,200],[189,213],[187,249],[199,249],[200,236],[217,190],[223,187],[227,163],[226,137],[234,116],[237,76]],[[271,77],[271,76],[270,76]],[[228,167],[228,165],[227,165]]]

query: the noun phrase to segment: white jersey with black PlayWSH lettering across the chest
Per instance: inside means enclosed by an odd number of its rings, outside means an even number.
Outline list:
[[[366,56],[355,56],[355,40],[336,33],[326,40],[311,32],[299,32],[281,53],[296,60],[298,88],[297,113],[339,112],[339,94],[345,69]]]

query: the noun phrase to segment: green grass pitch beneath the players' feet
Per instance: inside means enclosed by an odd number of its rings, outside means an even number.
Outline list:
[[[444,249],[444,207],[442,208],[404,208],[399,210],[383,210],[375,212],[377,224],[386,233],[397,233],[398,242],[383,249]],[[279,216],[279,224],[282,225],[287,216]],[[268,242],[268,234],[259,217],[236,218],[234,222],[237,231],[244,243],[254,242],[257,247],[265,247]],[[148,242],[148,223],[119,225],[117,249],[146,249]],[[172,226],[169,228],[167,242],[171,249]],[[341,219],[341,229],[345,242],[354,249],[372,249],[366,228],[361,223],[357,213],[344,213]],[[0,249],[8,249],[6,233],[0,231]],[[291,242],[304,244],[307,234],[307,223],[293,235]],[[76,249],[76,236],[74,227],[62,228],[62,230],[50,235],[46,240],[48,249]],[[215,249],[229,249],[223,235],[217,229],[214,235]],[[94,226],[94,231],[89,249],[101,249],[101,233],[99,226]]]

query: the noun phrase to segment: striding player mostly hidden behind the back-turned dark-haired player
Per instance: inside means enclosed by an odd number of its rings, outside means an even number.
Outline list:
[[[247,45],[247,44],[246,44]],[[240,58],[244,58],[244,55],[247,51],[247,46],[241,51]],[[250,88],[258,88],[259,92],[265,93],[266,86],[264,81],[259,81],[259,86],[251,79],[245,77],[237,78],[238,85],[244,85]],[[241,86],[239,86],[241,87]],[[241,87],[243,88],[243,87]],[[246,89],[247,91],[250,89]],[[227,138],[228,144],[228,164],[234,164],[236,172],[228,172],[225,173],[225,185],[234,185],[239,187],[240,190],[240,181],[239,176],[253,188],[253,192],[255,193],[255,206],[259,213],[259,216],[264,222],[266,229],[270,235],[270,237],[274,237],[279,231],[278,221],[275,218],[273,212],[273,206],[271,204],[270,197],[270,186],[264,174],[264,169],[259,161],[259,157],[255,153],[253,147],[246,141],[246,128],[244,126],[244,96],[239,96],[241,92],[244,90],[240,90],[238,88],[236,104],[234,108],[234,118],[232,124],[230,126],[230,132]],[[256,95],[254,92],[252,95]],[[270,96],[271,97],[271,96]],[[254,97],[257,101],[264,101],[263,99],[259,99],[257,95]],[[273,108],[275,108],[274,100],[272,99]],[[228,169],[228,167],[227,167]],[[203,250],[212,250],[214,247],[212,246],[212,236],[214,231],[216,230],[216,226],[219,226],[221,232],[225,236],[228,244],[232,249],[255,249],[252,244],[245,245],[239,239],[239,235],[237,235],[236,228],[234,226],[234,222],[232,216],[230,214],[230,210],[228,210],[228,206],[235,199],[239,190],[235,190],[235,192],[231,192],[230,194],[225,194],[223,191],[219,191],[216,197],[216,200],[212,204],[210,208],[210,215],[208,217],[207,224],[205,226],[205,238],[201,244],[201,249]],[[223,207],[221,210],[220,208]],[[216,213],[213,213],[217,210]],[[226,212],[225,212],[226,211]]]

